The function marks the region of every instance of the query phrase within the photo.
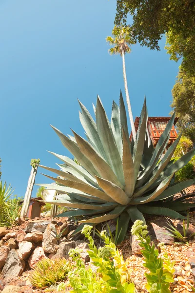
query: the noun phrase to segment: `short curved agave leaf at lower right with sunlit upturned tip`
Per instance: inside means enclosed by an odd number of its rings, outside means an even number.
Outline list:
[[[172,177],[173,177],[173,174],[171,176],[167,177],[166,179],[164,179],[160,183],[160,185],[156,188],[156,190],[153,193],[151,193],[150,195],[134,198],[131,201],[131,204],[140,205],[140,204],[143,204],[143,203],[146,204],[146,203],[151,202],[152,200],[154,200],[158,195],[160,195],[168,187]]]

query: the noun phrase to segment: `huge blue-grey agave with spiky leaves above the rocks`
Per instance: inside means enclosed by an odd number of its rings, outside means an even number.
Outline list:
[[[175,193],[195,183],[195,179],[174,183],[173,176],[195,155],[195,149],[171,160],[181,135],[164,153],[169,141],[175,114],[171,117],[156,148],[147,133],[148,113],[146,101],[141,111],[135,143],[129,140],[125,106],[120,93],[120,106],[112,106],[111,123],[98,97],[95,110],[96,122],[79,102],[80,122],[87,140],[73,131],[74,137],[65,136],[56,127],[62,144],[73,154],[79,164],[63,155],[54,154],[63,164],[60,169],[39,165],[58,175],[47,176],[55,181],[40,184],[59,192],[58,204],[71,208],[63,216],[83,217],[79,226],[98,223],[119,217],[123,227],[120,241],[124,238],[130,219],[143,221],[144,214],[184,218],[179,212],[189,209],[188,203],[173,200]]]

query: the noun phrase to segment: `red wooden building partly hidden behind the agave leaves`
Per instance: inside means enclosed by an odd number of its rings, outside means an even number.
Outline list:
[[[171,117],[148,117],[148,131],[154,146],[156,146],[161,134],[163,133],[170,119]],[[177,138],[177,132],[175,128],[177,120],[178,118],[176,117],[171,129],[170,139],[167,145],[168,147],[171,146]],[[134,124],[135,124],[136,132],[137,132],[137,129],[139,126],[139,117],[136,117]],[[132,133],[130,135],[130,140],[131,139],[132,139]]]

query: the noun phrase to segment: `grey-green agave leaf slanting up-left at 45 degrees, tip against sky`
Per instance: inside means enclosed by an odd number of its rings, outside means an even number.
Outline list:
[[[98,172],[92,165],[92,163],[81,153],[79,147],[76,143],[71,141],[67,136],[65,136],[61,131],[59,131],[56,127],[51,126],[55,132],[58,134],[60,141],[63,146],[65,146],[73,156],[80,162],[80,164],[89,171],[93,176],[98,175]]]

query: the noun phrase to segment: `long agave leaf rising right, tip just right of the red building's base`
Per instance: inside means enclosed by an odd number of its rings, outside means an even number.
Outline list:
[[[153,176],[150,178],[150,180],[141,188],[138,188],[134,194],[135,197],[140,196],[144,193],[158,178],[160,173],[164,170],[164,168],[167,166],[167,164],[170,162],[175,150],[176,146],[181,138],[182,133],[177,137],[176,141],[168,148],[167,152],[165,153],[164,157],[162,158],[161,162],[159,163],[158,167],[155,169]],[[172,175],[173,177],[173,175]]]

